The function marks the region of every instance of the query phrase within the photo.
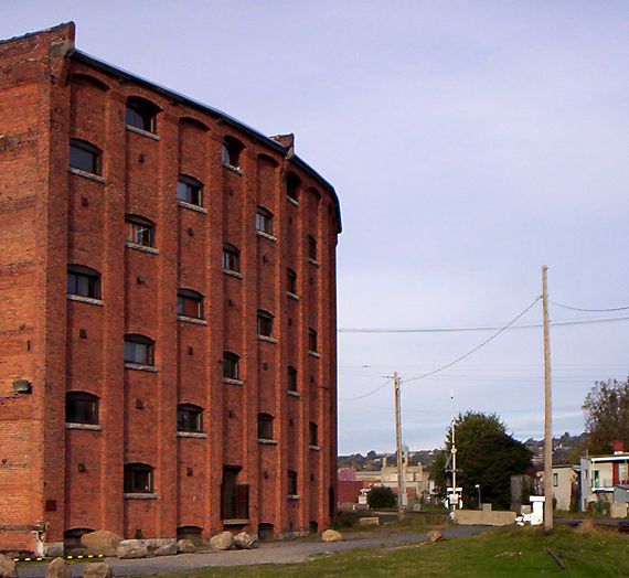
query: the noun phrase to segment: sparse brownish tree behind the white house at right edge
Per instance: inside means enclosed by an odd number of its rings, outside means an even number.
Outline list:
[[[629,378],[596,382],[583,405],[587,448],[608,453],[616,440],[629,447]]]

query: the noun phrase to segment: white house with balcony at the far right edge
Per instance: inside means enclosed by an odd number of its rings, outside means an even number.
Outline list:
[[[625,500],[629,486],[629,452],[621,441],[614,443],[614,453],[584,456],[580,459],[580,510],[590,502],[614,503]]]

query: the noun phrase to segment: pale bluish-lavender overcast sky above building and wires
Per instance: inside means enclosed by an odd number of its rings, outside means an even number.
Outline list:
[[[296,133],[341,200],[340,328],[502,325],[540,295],[544,264],[557,302],[629,304],[628,2],[0,0],[0,38],[67,20],[89,54]],[[556,434],[582,431],[595,379],[628,375],[628,332],[552,330]],[[394,447],[391,384],[342,398],[491,334],[341,333],[340,452]],[[402,387],[411,449],[443,442],[451,389],[457,410],[541,438],[541,329]]]

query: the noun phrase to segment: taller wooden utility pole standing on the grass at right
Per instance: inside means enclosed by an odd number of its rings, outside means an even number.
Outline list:
[[[553,385],[551,381],[551,330],[548,327],[548,268],[542,267],[544,310],[544,529],[553,529]]]

